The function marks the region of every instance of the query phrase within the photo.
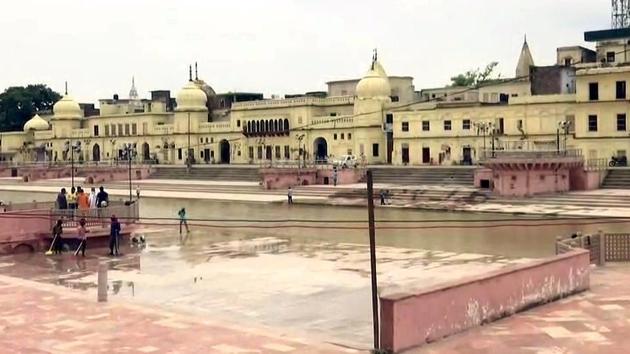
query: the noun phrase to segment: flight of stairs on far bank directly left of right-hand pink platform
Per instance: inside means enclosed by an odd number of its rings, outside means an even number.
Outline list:
[[[461,167],[375,167],[372,171],[374,183],[472,186],[475,169]]]

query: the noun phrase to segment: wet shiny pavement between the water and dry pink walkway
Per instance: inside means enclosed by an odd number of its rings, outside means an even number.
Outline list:
[[[350,243],[301,243],[290,238],[234,239],[229,233],[171,230],[146,233],[142,248],[118,258],[89,250],[8,256],[0,274],[74,289],[96,287],[98,264],[109,265],[110,301],[118,299],[203,318],[290,330],[353,348],[371,343],[369,250]],[[379,247],[381,293],[422,288],[527,259]]]

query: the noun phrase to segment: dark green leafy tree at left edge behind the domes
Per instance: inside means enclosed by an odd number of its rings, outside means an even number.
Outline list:
[[[0,93],[0,131],[21,130],[33,115],[51,110],[60,98],[43,84],[9,87]]]

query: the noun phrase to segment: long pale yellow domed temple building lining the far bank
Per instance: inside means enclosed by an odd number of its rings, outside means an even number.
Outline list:
[[[580,150],[587,159],[626,155],[629,29],[586,32],[596,49],[557,49],[536,66],[524,41],[514,77],[476,87],[416,91],[388,76],[376,52],[360,79],[326,92],[264,99],[217,94],[192,68],[175,98],[132,80],[127,99],[80,105],[67,92],[52,114],[0,133],[0,160],[111,162],[135,144],[139,162],[258,164],[355,155],[368,164],[475,164],[493,150]],[[76,147],[76,152],[70,151]]]

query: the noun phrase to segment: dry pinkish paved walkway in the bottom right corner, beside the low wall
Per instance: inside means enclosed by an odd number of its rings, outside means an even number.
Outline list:
[[[630,352],[630,264],[595,269],[591,291],[478,327],[406,354]]]

